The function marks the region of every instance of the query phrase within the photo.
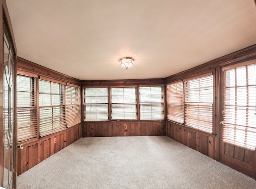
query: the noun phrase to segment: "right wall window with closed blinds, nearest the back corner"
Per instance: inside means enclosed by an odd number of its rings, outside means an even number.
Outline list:
[[[183,82],[178,81],[166,86],[167,119],[177,123],[184,122]]]

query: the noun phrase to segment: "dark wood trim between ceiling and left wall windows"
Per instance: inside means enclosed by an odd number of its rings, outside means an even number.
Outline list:
[[[36,73],[40,76],[50,77],[59,81],[64,81],[65,83],[71,83],[80,86],[80,80],[68,75],[59,73],[52,69],[46,68],[44,66],[38,65],[21,57],[17,57],[17,69],[19,71],[27,71],[31,73]]]

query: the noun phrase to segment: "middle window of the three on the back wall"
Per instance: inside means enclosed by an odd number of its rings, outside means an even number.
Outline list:
[[[111,120],[137,120],[136,87],[111,88]]]

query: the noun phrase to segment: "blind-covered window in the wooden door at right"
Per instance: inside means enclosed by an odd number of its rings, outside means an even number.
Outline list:
[[[223,141],[256,149],[256,64],[225,71]]]

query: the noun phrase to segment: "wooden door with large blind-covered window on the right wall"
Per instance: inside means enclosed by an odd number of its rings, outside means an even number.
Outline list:
[[[220,161],[256,178],[256,60],[222,67]]]

